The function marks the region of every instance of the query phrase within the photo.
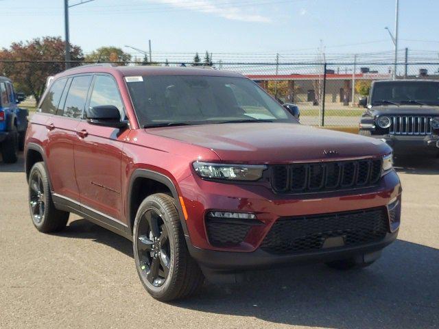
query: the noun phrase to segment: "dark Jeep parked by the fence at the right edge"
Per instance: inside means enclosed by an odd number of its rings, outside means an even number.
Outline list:
[[[439,155],[439,81],[396,80],[372,84],[359,134],[381,139],[396,154]]]

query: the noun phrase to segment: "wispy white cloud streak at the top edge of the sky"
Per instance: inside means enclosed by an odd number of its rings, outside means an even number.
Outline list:
[[[171,5],[174,8],[181,8],[187,10],[193,10],[195,12],[205,12],[208,14],[214,14],[224,19],[230,19],[233,21],[244,21],[244,22],[257,22],[257,23],[270,23],[271,19],[267,16],[262,16],[259,14],[251,14],[248,7],[234,7],[230,6],[230,2],[227,5],[221,7],[220,4],[215,4],[211,0],[152,0],[157,3],[163,3],[166,5]],[[239,2],[237,2],[239,4]]]

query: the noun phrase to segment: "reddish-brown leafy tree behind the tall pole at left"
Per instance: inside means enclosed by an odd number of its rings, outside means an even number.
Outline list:
[[[10,77],[18,91],[33,95],[38,102],[47,77],[65,69],[64,49],[64,40],[53,36],[13,42],[9,49],[0,51],[0,73]],[[78,61],[71,66],[77,66],[84,60],[79,46],[71,45],[71,60]]]

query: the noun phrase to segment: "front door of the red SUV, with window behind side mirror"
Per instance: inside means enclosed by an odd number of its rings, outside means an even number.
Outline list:
[[[119,88],[112,75],[99,73],[93,79],[87,106],[116,106],[121,118],[126,114]],[[126,225],[121,197],[121,157],[123,141],[129,130],[91,125],[85,119],[77,127],[80,137],[75,145],[75,173],[81,204],[114,222]],[[105,220],[105,219],[104,219]],[[117,225],[117,224],[116,224]]]

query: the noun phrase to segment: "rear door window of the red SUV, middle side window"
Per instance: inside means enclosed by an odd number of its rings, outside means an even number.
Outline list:
[[[91,82],[91,75],[73,77],[66,102],[64,103],[63,117],[80,118],[85,107],[88,87]]]

